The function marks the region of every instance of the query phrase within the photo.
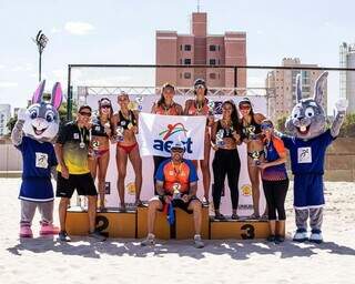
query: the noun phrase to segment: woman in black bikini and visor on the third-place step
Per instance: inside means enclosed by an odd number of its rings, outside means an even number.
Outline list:
[[[243,98],[239,103],[242,114],[242,139],[247,149],[247,172],[252,183],[252,196],[254,213],[251,219],[260,219],[260,179],[261,170],[257,166],[264,160],[264,143],[261,123],[265,116],[254,113],[250,99]],[[266,209],[265,209],[266,212]],[[263,214],[266,217],[266,214]]]

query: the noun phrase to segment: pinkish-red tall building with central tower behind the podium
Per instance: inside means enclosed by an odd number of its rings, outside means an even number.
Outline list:
[[[224,34],[207,33],[207,13],[195,12],[191,18],[191,33],[156,31],[156,64],[209,64],[245,65],[246,33],[226,31]],[[171,82],[178,87],[191,88],[194,80],[203,78],[209,87],[233,88],[234,70],[216,68],[158,68],[155,85]],[[237,87],[246,87],[246,70],[237,72]]]

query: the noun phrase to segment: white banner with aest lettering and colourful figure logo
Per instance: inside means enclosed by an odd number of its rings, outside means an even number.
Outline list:
[[[174,142],[182,142],[184,158],[202,160],[206,118],[140,113],[139,144],[142,156],[170,156]]]

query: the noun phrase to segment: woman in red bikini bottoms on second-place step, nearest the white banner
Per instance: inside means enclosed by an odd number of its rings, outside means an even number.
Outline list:
[[[125,92],[118,97],[120,111],[113,115],[112,124],[115,126],[116,141],[116,165],[119,171],[118,189],[120,196],[120,207],[125,210],[124,203],[124,179],[126,175],[126,163],[130,159],[135,174],[135,205],[141,202],[142,189],[142,159],[139,152],[135,134],[138,133],[138,112],[129,109],[130,98]]]

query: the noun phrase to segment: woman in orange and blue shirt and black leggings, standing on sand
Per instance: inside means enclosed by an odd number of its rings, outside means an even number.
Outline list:
[[[265,136],[265,161],[258,168],[262,170],[264,193],[267,202],[270,242],[283,242],[285,240],[285,199],[288,189],[288,178],[286,173],[286,150],[283,141],[274,135],[272,121],[264,120],[261,124]],[[276,230],[276,212],[278,226]]]

